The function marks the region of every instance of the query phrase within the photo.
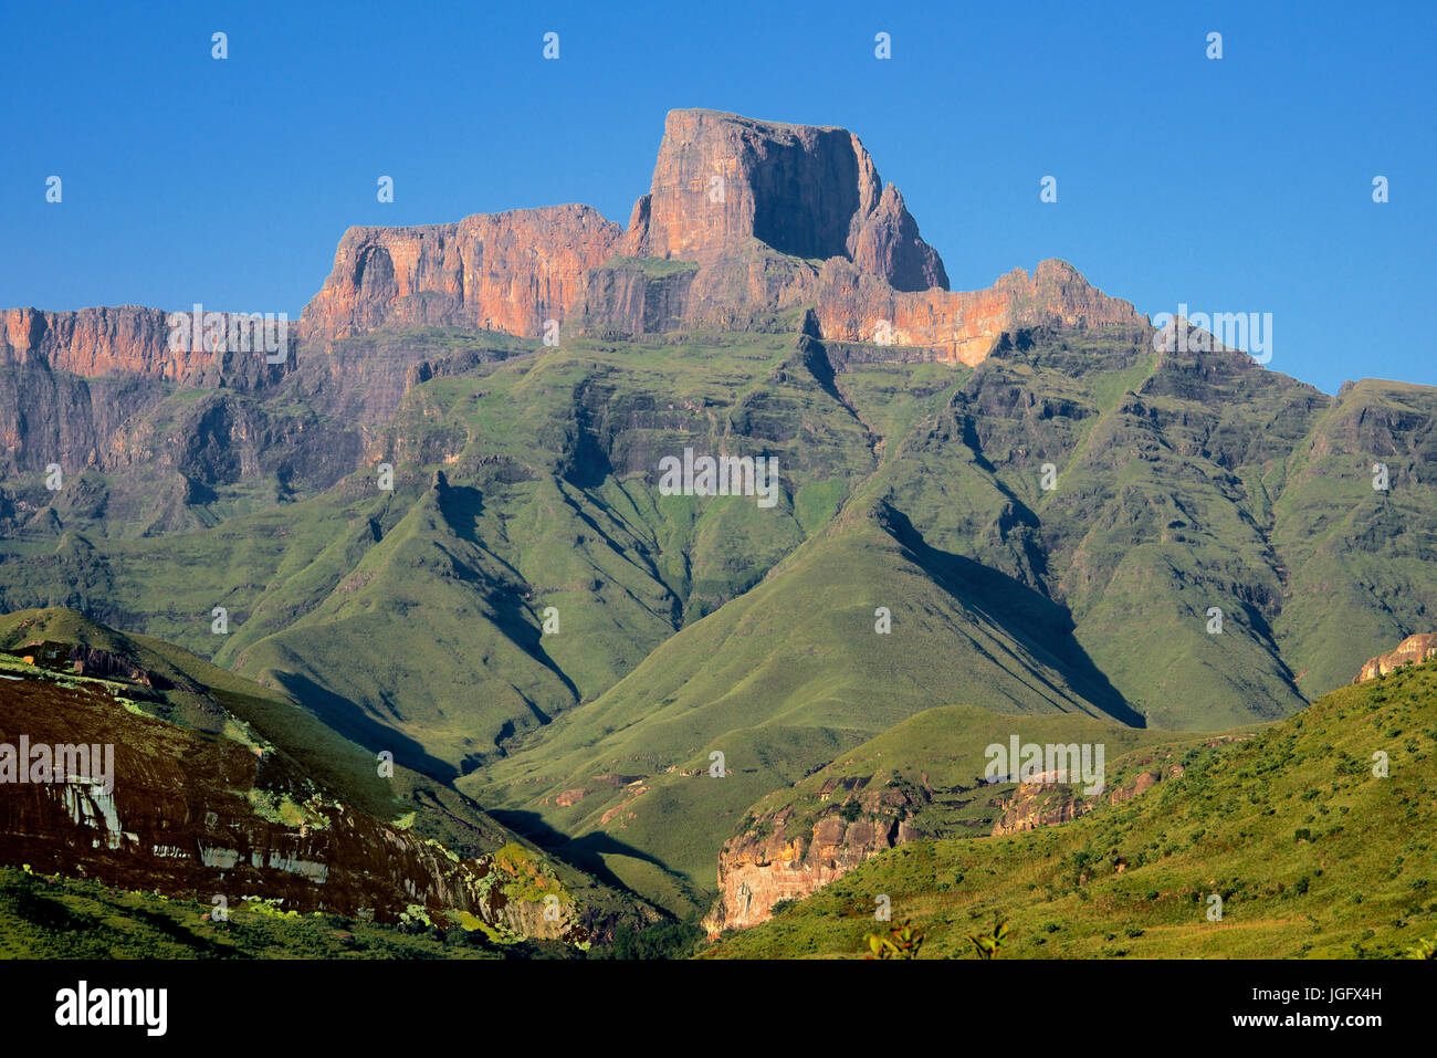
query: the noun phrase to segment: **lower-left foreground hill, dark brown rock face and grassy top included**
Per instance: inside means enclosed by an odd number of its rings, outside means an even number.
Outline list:
[[[178,648],[72,611],[7,615],[0,643],[7,753],[93,749],[53,776],[19,762],[29,782],[11,775],[0,795],[0,864],[236,907],[433,919],[496,939],[586,943],[581,916],[604,919],[473,802],[391,775],[295,703]],[[59,762],[59,749],[46,752]],[[605,903],[592,884],[578,890]],[[543,914],[547,896],[558,914]],[[612,914],[618,901],[606,903]]]

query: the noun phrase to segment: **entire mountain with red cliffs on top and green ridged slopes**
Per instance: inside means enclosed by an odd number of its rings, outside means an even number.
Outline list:
[[[680,917],[783,851],[754,805],[864,748],[911,834],[997,825],[1026,809],[944,815],[971,776],[924,742],[1275,723],[1431,628],[1437,390],[1155,341],[1065,262],[947,288],[851,132],[685,109],[628,227],[351,229],[273,349],[7,310],[0,611],[208,658],[190,684],[247,681],[316,783],[392,753],[417,802]],[[668,487],[704,459],[769,474]]]

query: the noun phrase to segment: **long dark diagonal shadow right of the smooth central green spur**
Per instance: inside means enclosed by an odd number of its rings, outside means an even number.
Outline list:
[[[938,586],[981,610],[1035,657],[1062,673],[1075,691],[1104,713],[1129,727],[1147,727],[1147,719],[1128,704],[1073,638],[1073,620],[1065,607],[1007,574],[930,546],[907,515],[884,506],[894,539]]]

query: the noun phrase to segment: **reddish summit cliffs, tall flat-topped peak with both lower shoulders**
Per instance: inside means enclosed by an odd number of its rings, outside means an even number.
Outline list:
[[[351,229],[300,334],[438,323],[537,336],[546,319],[601,335],[766,329],[803,305],[822,338],[963,364],[1016,328],[1145,323],[1059,260],[950,292],[941,257],[858,137],[680,109],[627,231],[585,206]]]

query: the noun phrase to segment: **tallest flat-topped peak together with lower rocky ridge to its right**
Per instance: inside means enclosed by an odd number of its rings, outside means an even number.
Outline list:
[[[654,185],[635,204],[621,252],[698,266],[681,308],[667,298],[667,319],[741,326],[810,303],[823,338],[928,346],[964,364],[984,359],[1013,328],[1145,322],[1059,260],[953,293],[902,194],[882,184],[855,135],[716,111],[670,112]],[[637,332],[628,306],[645,285],[631,282],[622,300],[591,285],[585,318]]]

